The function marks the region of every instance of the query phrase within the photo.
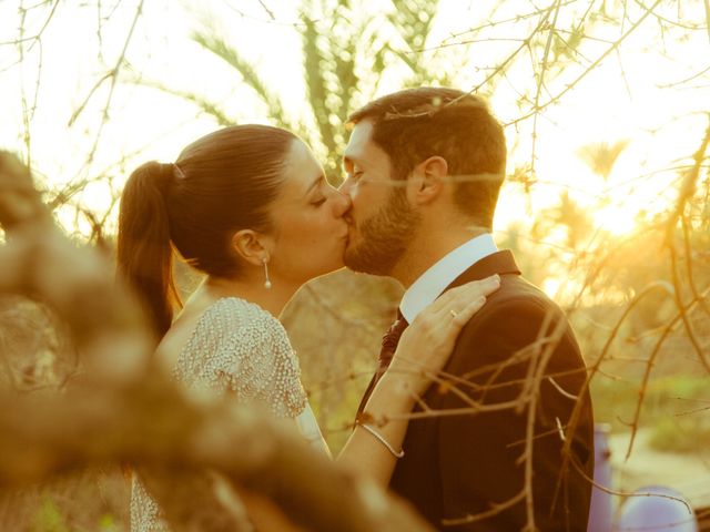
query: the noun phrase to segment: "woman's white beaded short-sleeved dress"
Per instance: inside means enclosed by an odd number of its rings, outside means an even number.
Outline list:
[[[281,323],[257,305],[225,297],[200,317],[180,352],[173,377],[187,390],[234,395],[243,405],[266,406],[293,418],[312,444],[327,446],[300,380],[298,359]],[[160,508],[133,475],[131,531],[168,531]]]

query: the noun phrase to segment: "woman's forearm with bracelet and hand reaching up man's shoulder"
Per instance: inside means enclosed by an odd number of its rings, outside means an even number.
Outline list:
[[[407,431],[406,416],[448,360],[462,328],[499,286],[495,275],[453,288],[417,316],[337,457],[341,463],[383,487],[389,483]]]

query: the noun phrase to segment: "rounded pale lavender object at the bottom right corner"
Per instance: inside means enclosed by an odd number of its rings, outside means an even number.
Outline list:
[[[636,490],[621,505],[615,532],[698,532],[698,521],[688,500],[676,490],[650,485]],[[646,493],[646,495],[643,495]],[[666,497],[655,497],[656,493]],[[669,499],[673,498],[673,499]],[[688,503],[683,503],[686,501]],[[590,529],[591,530],[591,529]]]

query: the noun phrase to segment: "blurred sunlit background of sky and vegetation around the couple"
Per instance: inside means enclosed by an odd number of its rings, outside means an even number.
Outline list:
[[[106,254],[139,164],[265,123],[337,185],[348,113],[422,84],[484,95],[505,124],[495,237],[570,316],[615,488],[709,507],[708,0],[0,0],[0,147]],[[189,294],[200,279],[178,270]],[[343,270],[285,311],[334,452],[400,295]],[[67,350],[50,309],[0,299],[2,386],[61,388]],[[126,513],[109,466],[0,498],[3,530],[124,530]]]

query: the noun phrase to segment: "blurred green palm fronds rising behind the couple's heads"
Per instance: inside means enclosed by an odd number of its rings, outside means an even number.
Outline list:
[[[322,158],[328,180],[338,184],[347,116],[375,94],[386,69],[405,66],[408,75],[404,86],[448,81],[446,72],[433,72],[423,53],[437,8],[438,0],[393,0],[392,10],[383,16],[367,14],[371,11],[362,0],[302,2],[296,28],[310,115],[305,122],[286,115],[280,96],[270,90],[256,66],[213,28],[195,31],[193,40],[241,75],[266,105],[274,124],[296,132],[311,144]],[[222,123],[226,113],[217,104],[193,94],[186,99]],[[311,120],[315,127],[307,125]]]

